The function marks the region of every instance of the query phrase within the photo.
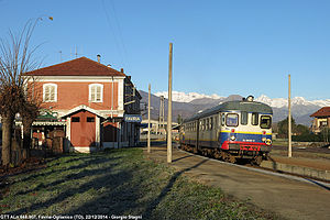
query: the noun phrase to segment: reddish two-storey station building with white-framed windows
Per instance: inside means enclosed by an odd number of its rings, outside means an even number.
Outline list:
[[[41,116],[52,116],[33,123],[33,136],[40,142],[62,130],[66,152],[138,144],[141,96],[123,69],[80,57],[25,77],[42,101]]]

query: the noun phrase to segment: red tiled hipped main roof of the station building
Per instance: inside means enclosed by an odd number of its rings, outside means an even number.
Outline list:
[[[28,72],[30,76],[127,76],[125,74],[110,68],[103,64],[86,57]]]

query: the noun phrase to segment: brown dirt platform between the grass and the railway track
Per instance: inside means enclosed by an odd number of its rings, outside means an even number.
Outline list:
[[[166,147],[152,146],[147,157],[166,163]],[[173,150],[170,166],[198,182],[287,219],[330,219],[330,189],[318,185],[254,173]]]

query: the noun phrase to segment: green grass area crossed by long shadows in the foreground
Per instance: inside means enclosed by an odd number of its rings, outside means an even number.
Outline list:
[[[75,154],[8,177],[0,213],[108,215],[142,219],[273,219],[219,188],[190,180],[141,148]],[[85,216],[86,217],[86,216]]]

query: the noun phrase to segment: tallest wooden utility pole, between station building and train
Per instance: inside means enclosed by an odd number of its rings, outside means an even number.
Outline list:
[[[167,113],[167,163],[172,163],[172,48],[169,43],[168,57],[168,113]]]

